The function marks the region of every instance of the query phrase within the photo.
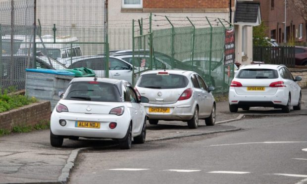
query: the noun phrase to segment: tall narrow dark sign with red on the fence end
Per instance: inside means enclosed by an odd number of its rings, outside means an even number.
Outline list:
[[[235,29],[225,30],[224,66],[235,62]]]

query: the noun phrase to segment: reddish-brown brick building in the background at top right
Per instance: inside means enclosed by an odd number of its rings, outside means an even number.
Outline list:
[[[259,0],[261,17],[268,27],[267,36],[284,42],[285,0]],[[286,5],[286,41],[306,42],[306,23],[291,3]]]

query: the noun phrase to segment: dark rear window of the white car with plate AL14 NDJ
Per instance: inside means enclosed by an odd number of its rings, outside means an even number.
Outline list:
[[[101,102],[120,102],[120,93],[114,84],[96,81],[71,83],[63,99]]]

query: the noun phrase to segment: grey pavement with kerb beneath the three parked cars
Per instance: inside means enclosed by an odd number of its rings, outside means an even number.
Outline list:
[[[257,115],[307,115],[307,89],[303,89],[302,110],[281,113],[272,108],[251,108],[250,111],[230,113],[228,102],[216,105],[216,125],[205,126],[200,120],[198,129],[188,129],[184,122],[161,121],[158,125],[149,125],[147,141],[197,136],[220,132],[237,131],[240,128],[226,126],[222,123],[238,120],[244,116]],[[105,149],[114,146],[115,141],[109,139],[65,139],[63,147],[50,145],[49,131],[34,131],[24,134],[11,134],[0,137],[0,184],[5,183],[65,183],[74,161],[80,151]],[[133,149],[133,146],[132,146]]]

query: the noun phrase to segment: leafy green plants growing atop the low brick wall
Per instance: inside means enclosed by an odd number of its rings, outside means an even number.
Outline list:
[[[15,94],[14,92],[14,88],[9,88],[0,94],[0,112],[22,107],[38,101],[35,97]]]

